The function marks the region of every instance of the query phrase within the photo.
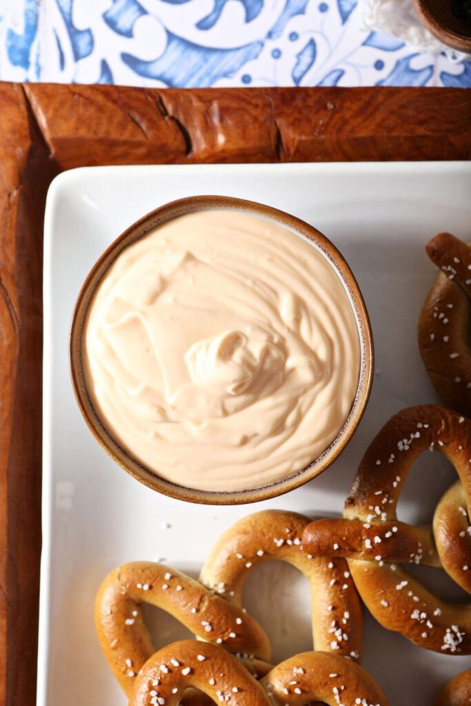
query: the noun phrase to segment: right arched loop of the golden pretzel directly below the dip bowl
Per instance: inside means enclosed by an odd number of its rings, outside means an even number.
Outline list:
[[[286,561],[309,580],[316,650],[360,659],[362,606],[350,570],[345,559],[302,551],[302,532],[309,522],[309,517],[282,510],[244,517],[218,539],[200,581],[241,607],[242,588],[251,571],[266,561]]]

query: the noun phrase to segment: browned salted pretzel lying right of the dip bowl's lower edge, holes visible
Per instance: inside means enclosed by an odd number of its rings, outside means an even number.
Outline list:
[[[460,480],[436,507],[433,527],[396,519],[412,463],[440,450]],[[444,568],[471,593],[471,421],[439,405],[404,409],[366,450],[345,502],[344,520],[318,520],[305,551],[345,556],[364,603],[385,628],[436,652],[471,653],[471,603],[444,602],[398,563]]]

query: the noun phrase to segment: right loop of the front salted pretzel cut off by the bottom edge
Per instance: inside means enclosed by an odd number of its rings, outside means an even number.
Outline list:
[[[303,652],[286,659],[261,680],[273,705],[388,706],[374,679],[359,664],[329,652]]]

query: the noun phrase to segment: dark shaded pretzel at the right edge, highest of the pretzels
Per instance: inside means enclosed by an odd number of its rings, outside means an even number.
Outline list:
[[[441,273],[420,314],[420,354],[441,402],[471,417],[471,249],[440,233],[427,254]]]

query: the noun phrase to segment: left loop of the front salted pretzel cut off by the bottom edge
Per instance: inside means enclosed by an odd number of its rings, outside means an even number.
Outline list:
[[[133,684],[129,706],[178,706],[188,688],[216,703],[271,706],[266,691],[237,657],[197,640],[173,642],[155,652]]]

